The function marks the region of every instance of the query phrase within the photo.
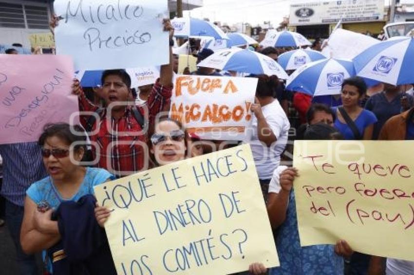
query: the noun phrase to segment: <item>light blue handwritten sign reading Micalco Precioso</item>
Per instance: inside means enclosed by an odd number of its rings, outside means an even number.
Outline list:
[[[58,54],[76,69],[138,68],[169,63],[166,0],[56,0]]]

